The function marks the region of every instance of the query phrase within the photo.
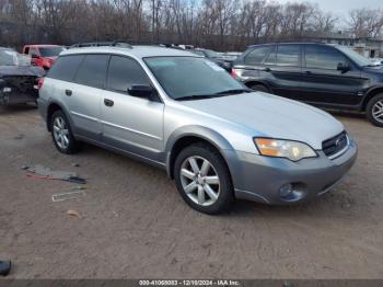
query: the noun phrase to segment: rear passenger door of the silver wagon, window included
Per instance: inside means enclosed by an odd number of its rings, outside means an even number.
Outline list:
[[[65,89],[77,134],[93,140],[101,139],[101,97],[108,60],[109,55],[85,55],[73,83]]]

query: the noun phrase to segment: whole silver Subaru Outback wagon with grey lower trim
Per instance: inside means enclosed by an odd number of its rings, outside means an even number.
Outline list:
[[[162,47],[63,51],[38,107],[56,148],[88,141],[166,170],[193,208],[282,205],[328,192],[357,146],[329,114],[253,92],[216,64]]]

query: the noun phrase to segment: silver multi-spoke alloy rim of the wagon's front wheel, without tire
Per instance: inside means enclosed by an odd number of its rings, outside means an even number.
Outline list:
[[[195,204],[210,206],[219,198],[220,179],[207,159],[187,158],[181,165],[181,183],[186,195]]]

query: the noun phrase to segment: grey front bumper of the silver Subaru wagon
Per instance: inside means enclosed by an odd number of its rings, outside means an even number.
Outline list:
[[[357,153],[356,142],[350,141],[347,151],[333,160],[322,151],[318,158],[299,162],[237,151],[225,151],[224,156],[236,198],[283,205],[305,202],[332,190],[351,169]],[[281,196],[281,187],[289,184],[294,193]]]

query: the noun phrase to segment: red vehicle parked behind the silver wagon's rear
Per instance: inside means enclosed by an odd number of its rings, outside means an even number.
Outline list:
[[[65,48],[62,46],[58,45],[25,45],[23,48],[23,54],[31,56],[31,62],[33,66],[49,70],[57,56],[63,49]]]

